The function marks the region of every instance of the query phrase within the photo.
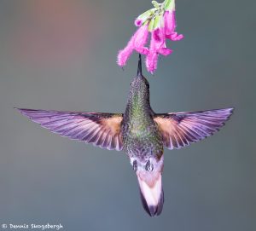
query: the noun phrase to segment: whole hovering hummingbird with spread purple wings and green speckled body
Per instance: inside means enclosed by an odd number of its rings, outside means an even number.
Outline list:
[[[143,208],[159,216],[164,205],[164,147],[179,149],[211,136],[234,108],[185,113],[154,113],[139,55],[125,113],[60,112],[17,108],[32,121],[61,136],[108,150],[123,150],[137,175]]]

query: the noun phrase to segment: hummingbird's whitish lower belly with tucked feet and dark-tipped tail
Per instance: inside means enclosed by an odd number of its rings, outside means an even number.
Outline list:
[[[136,172],[140,187],[143,208],[150,217],[160,215],[164,204],[162,188],[162,171],[164,167],[164,155],[160,159],[131,158],[131,165]]]

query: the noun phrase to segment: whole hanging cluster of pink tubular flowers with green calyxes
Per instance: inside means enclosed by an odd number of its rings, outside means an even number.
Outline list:
[[[157,68],[159,55],[170,55],[172,49],[166,48],[166,38],[178,41],[183,38],[176,32],[175,0],[165,0],[163,3],[152,1],[154,8],[140,14],[134,24],[138,27],[137,32],[131,37],[125,49],[119,50],[119,66],[125,66],[133,50],[146,55],[148,72],[153,73]],[[145,47],[148,41],[148,32],[151,32],[149,49]]]

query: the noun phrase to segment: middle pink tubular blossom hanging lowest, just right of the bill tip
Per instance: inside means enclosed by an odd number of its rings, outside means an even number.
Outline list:
[[[157,68],[158,55],[170,55],[172,49],[166,48],[165,28],[157,28],[151,32],[151,41],[149,53],[146,57],[146,66],[148,72],[153,73]]]

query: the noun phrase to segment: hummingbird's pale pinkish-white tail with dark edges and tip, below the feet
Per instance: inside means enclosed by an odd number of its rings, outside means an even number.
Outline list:
[[[143,208],[150,217],[159,216],[164,205],[164,191],[162,188],[162,176],[158,172],[156,176],[144,177],[137,175]]]

